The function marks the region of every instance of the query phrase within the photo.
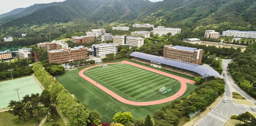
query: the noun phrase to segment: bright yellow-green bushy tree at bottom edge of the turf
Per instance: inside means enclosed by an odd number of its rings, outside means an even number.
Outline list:
[[[126,122],[132,121],[132,120],[133,120],[133,116],[130,112],[122,113],[121,111],[119,111],[113,117],[113,121],[115,123],[121,123],[121,124],[125,124]]]

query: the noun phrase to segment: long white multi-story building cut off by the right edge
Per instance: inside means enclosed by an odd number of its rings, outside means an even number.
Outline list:
[[[235,38],[256,38],[255,31],[239,31],[239,30],[226,30],[222,32],[223,36],[232,36]]]

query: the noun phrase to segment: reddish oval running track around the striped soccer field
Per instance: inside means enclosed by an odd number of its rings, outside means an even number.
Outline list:
[[[152,69],[152,68],[148,68],[148,67],[144,67],[143,65],[139,65],[139,64],[135,64],[135,63],[132,63],[132,62],[129,62],[129,61],[122,61],[122,63],[124,64],[130,64],[130,65],[133,65],[135,67],[139,67],[139,68],[143,68],[143,69],[146,69],[146,70],[150,70],[152,72],[155,72],[155,73],[158,73],[158,74],[162,74],[162,75],[165,75],[165,76],[169,76],[170,78],[174,78],[178,81],[181,82],[181,88],[180,88],[180,91],[178,91],[176,94],[174,94],[173,96],[171,97],[168,97],[168,98],[165,98],[165,99],[161,99],[161,100],[157,100],[157,101],[150,101],[150,102],[133,102],[133,101],[129,101],[127,99],[124,99],[122,98],[121,96],[117,95],[116,93],[110,91],[109,89],[107,89],[106,87],[96,83],[96,81],[88,78],[87,76],[84,75],[84,71],[87,70],[87,69],[90,69],[90,68],[93,68],[93,67],[97,67],[98,65],[94,65],[94,66],[91,66],[91,67],[88,67],[88,68],[85,68],[83,70],[81,70],[79,72],[79,75],[86,79],[87,81],[91,82],[92,84],[94,84],[95,86],[97,86],[98,88],[100,88],[101,90],[105,91],[106,93],[110,94],[112,97],[116,98],[118,101],[120,102],[123,102],[123,103],[126,103],[126,104],[131,104],[131,105],[154,105],[154,104],[161,104],[161,103],[165,103],[165,102],[170,102],[178,97],[180,97],[187,89],[187,85],[186,85],[186,82],[188,83],[191,83],[191,84],[194,84],[196,82],[192,81],[192,80],[188,80],[188,79],[185,79],[185,78],[181,78],[179,76],[175,76],[175,75],[172,75],[172,74],[168,74],[168,73],[165,73],[165,72],[162,72],[162,71],[159,71],[159,70],[156,70],[156,69]],[[105,64],[116,64],[116,63],[105,63]],[[104,64],[100,64],[100,65],[104,65]]]

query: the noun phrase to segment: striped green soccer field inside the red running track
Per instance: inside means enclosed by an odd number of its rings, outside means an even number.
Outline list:
[[[119,96],[135,102],[156,101],[165,96],[154,97],[159,88],[172,87],[174,90],[164,95],[170,97],[180,90],[180,82],[129,64],[108,64],[108,67],[94,67],[84,75],[97,79],[99,84],[117,93]],[[168,95],[169,94],[169,95]]]

